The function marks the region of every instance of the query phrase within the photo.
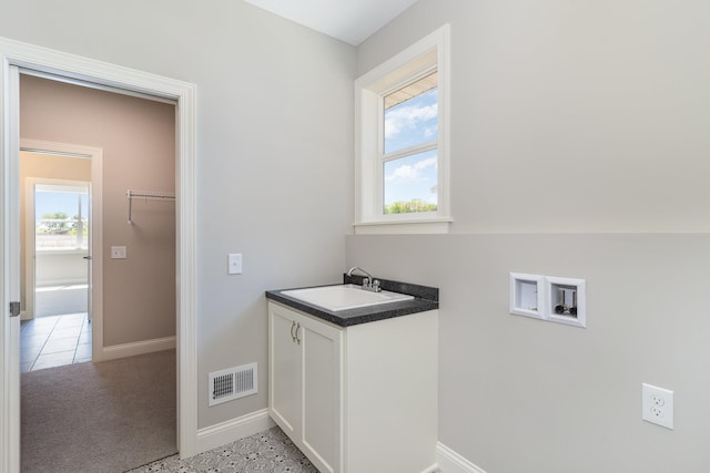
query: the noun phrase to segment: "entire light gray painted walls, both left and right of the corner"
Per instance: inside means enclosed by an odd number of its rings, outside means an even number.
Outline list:
[[[357,51],[240,1],[0,7],[6,37],[199,86],[200,382],[262,367],[200,426],[266,405],[263,290],[358,264],[442,288],[439,440],[488,473],[710,469],[710,6],[419,0]],[[344,238],[352,81],[444,22],[454,234]],[[586,278],[588,328],[509,316],[508,271]]]

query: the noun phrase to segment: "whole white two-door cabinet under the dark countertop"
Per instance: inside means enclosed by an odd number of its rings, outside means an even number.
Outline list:
[[[438,311],[351,327],[268,302],[268,410],[322,473],[436,463]]]

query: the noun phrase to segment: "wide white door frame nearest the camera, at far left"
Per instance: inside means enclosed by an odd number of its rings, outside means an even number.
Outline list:
[[[28,69],[178,102],[176,106],[176,294],[178,446],[196,453],[197,367],[195,320],[196,189],[194,84],[0,38],[0,472],[20,469],[19,318],[19,70]]]

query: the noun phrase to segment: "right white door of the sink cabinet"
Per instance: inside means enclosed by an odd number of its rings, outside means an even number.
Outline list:
[[[323,473],[343,461],[343,330],[302,317],[302,445]]]

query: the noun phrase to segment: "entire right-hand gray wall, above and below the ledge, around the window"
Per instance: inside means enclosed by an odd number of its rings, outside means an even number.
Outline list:
[[[488,473],[710,470],[709,17],[419,0],[358,48],[362,74],[452,24],[453,234],[352,236],[347,264],[440,288],[439,440]],[[509,271],[585,278],[587,329],[508,315]]]

